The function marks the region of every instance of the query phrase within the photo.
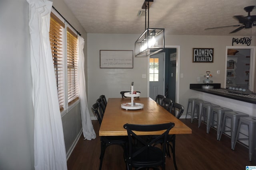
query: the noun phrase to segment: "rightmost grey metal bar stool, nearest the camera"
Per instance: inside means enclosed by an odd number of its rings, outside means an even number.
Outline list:
[[[240,133],[241,125],[248,126],[248,138],[238,138]],[[252,155],[254,152],[255,144],[256,144],[256,117],[241,117],[238,124],[238,129],[236,131],[236,140],[234,143],[234,148],[236,146],[236,141],[248,140],[249,146],[249,160],[252,161]]]

